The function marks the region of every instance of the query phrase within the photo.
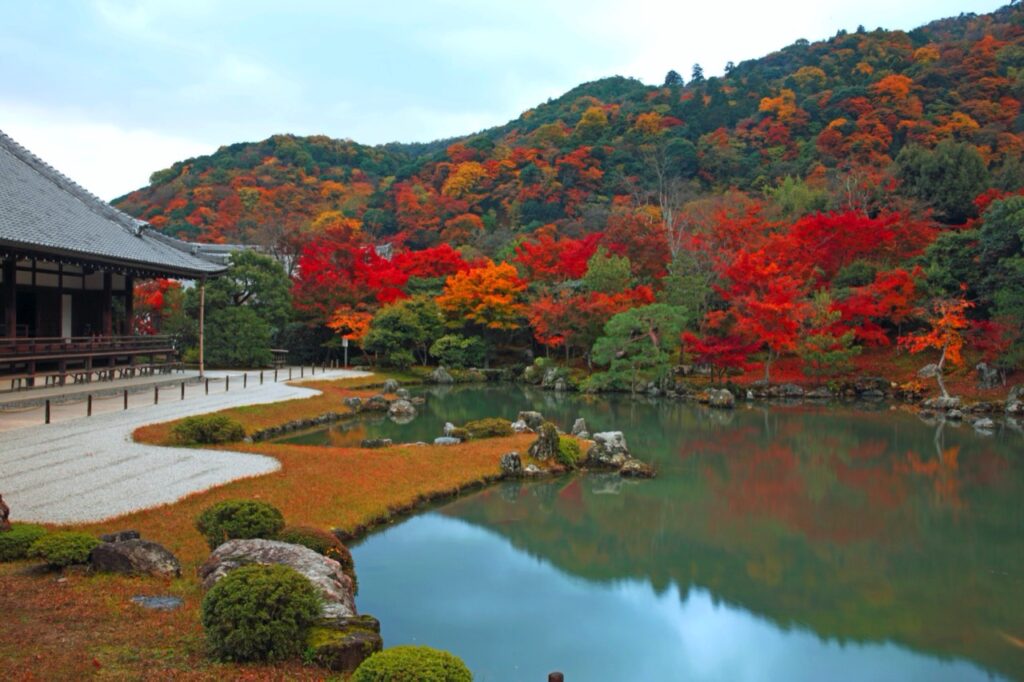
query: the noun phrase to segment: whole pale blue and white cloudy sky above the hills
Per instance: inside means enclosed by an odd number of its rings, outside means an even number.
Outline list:
[[[709,76],[1004,0],[0,0],[0,130],[103,199],[274,133],[427,141],[597,78]]]

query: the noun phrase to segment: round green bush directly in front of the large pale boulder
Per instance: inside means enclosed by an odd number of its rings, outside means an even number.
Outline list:
[[[203,598],[203,628],[219,660],[297,657],[321,613],[316,588],[294,568],[250,564],[230,571]]]

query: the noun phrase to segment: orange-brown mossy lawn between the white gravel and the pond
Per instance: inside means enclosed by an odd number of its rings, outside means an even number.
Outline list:
[[[323,395],[224,411],[247,432],[326,412],[343,412],[341,399],[377,391],[370,380],[305,384]],[[166,442],[170,425],[136,431],[136,438]],[[385,450],[273,443],[232,444],[230,450],[276,458],[282,469],[198,493],[177,503],[100,523],[77,526],[92,534],[134,528],[181,560],[182,578],[29,574],[30,563],[0,564],[0,679],[324,679],[326,671],[292,663],[273,667],[210,662],[200,626],[202,590],[196,568],[209,549],[193,523],[206,507],[227,499],[275,505],[290,524],[355,529],[424,497],[455,493],[494,479],[499,459],[524,451],[531,436],[476,440],[454,446],[408,445]],[[358,570],[358,566],[356,566]],[[144,610],[133,595],[173,594],[184,607]]]

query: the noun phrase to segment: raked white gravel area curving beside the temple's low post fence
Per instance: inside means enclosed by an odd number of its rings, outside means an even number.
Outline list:
[[[213,373],[210,373],[213,376]],[[328,371],[315,378],[367,376]],[[231,382],[232,387],[234,382]],[[253,385],[186,400],[162,401],[49,425],[0,432],[0,495],[11,520],[43,523],[98,521],[221,485],[276,471],[261,455],[160,447],[133,442],[139,426],[243,404],[316,394],[285,383]]]

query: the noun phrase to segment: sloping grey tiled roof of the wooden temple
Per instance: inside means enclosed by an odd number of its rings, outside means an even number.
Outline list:
[[[223,272],[222,258],[160,235],[91,195],[0,131],[0,250],[171,276]]]

